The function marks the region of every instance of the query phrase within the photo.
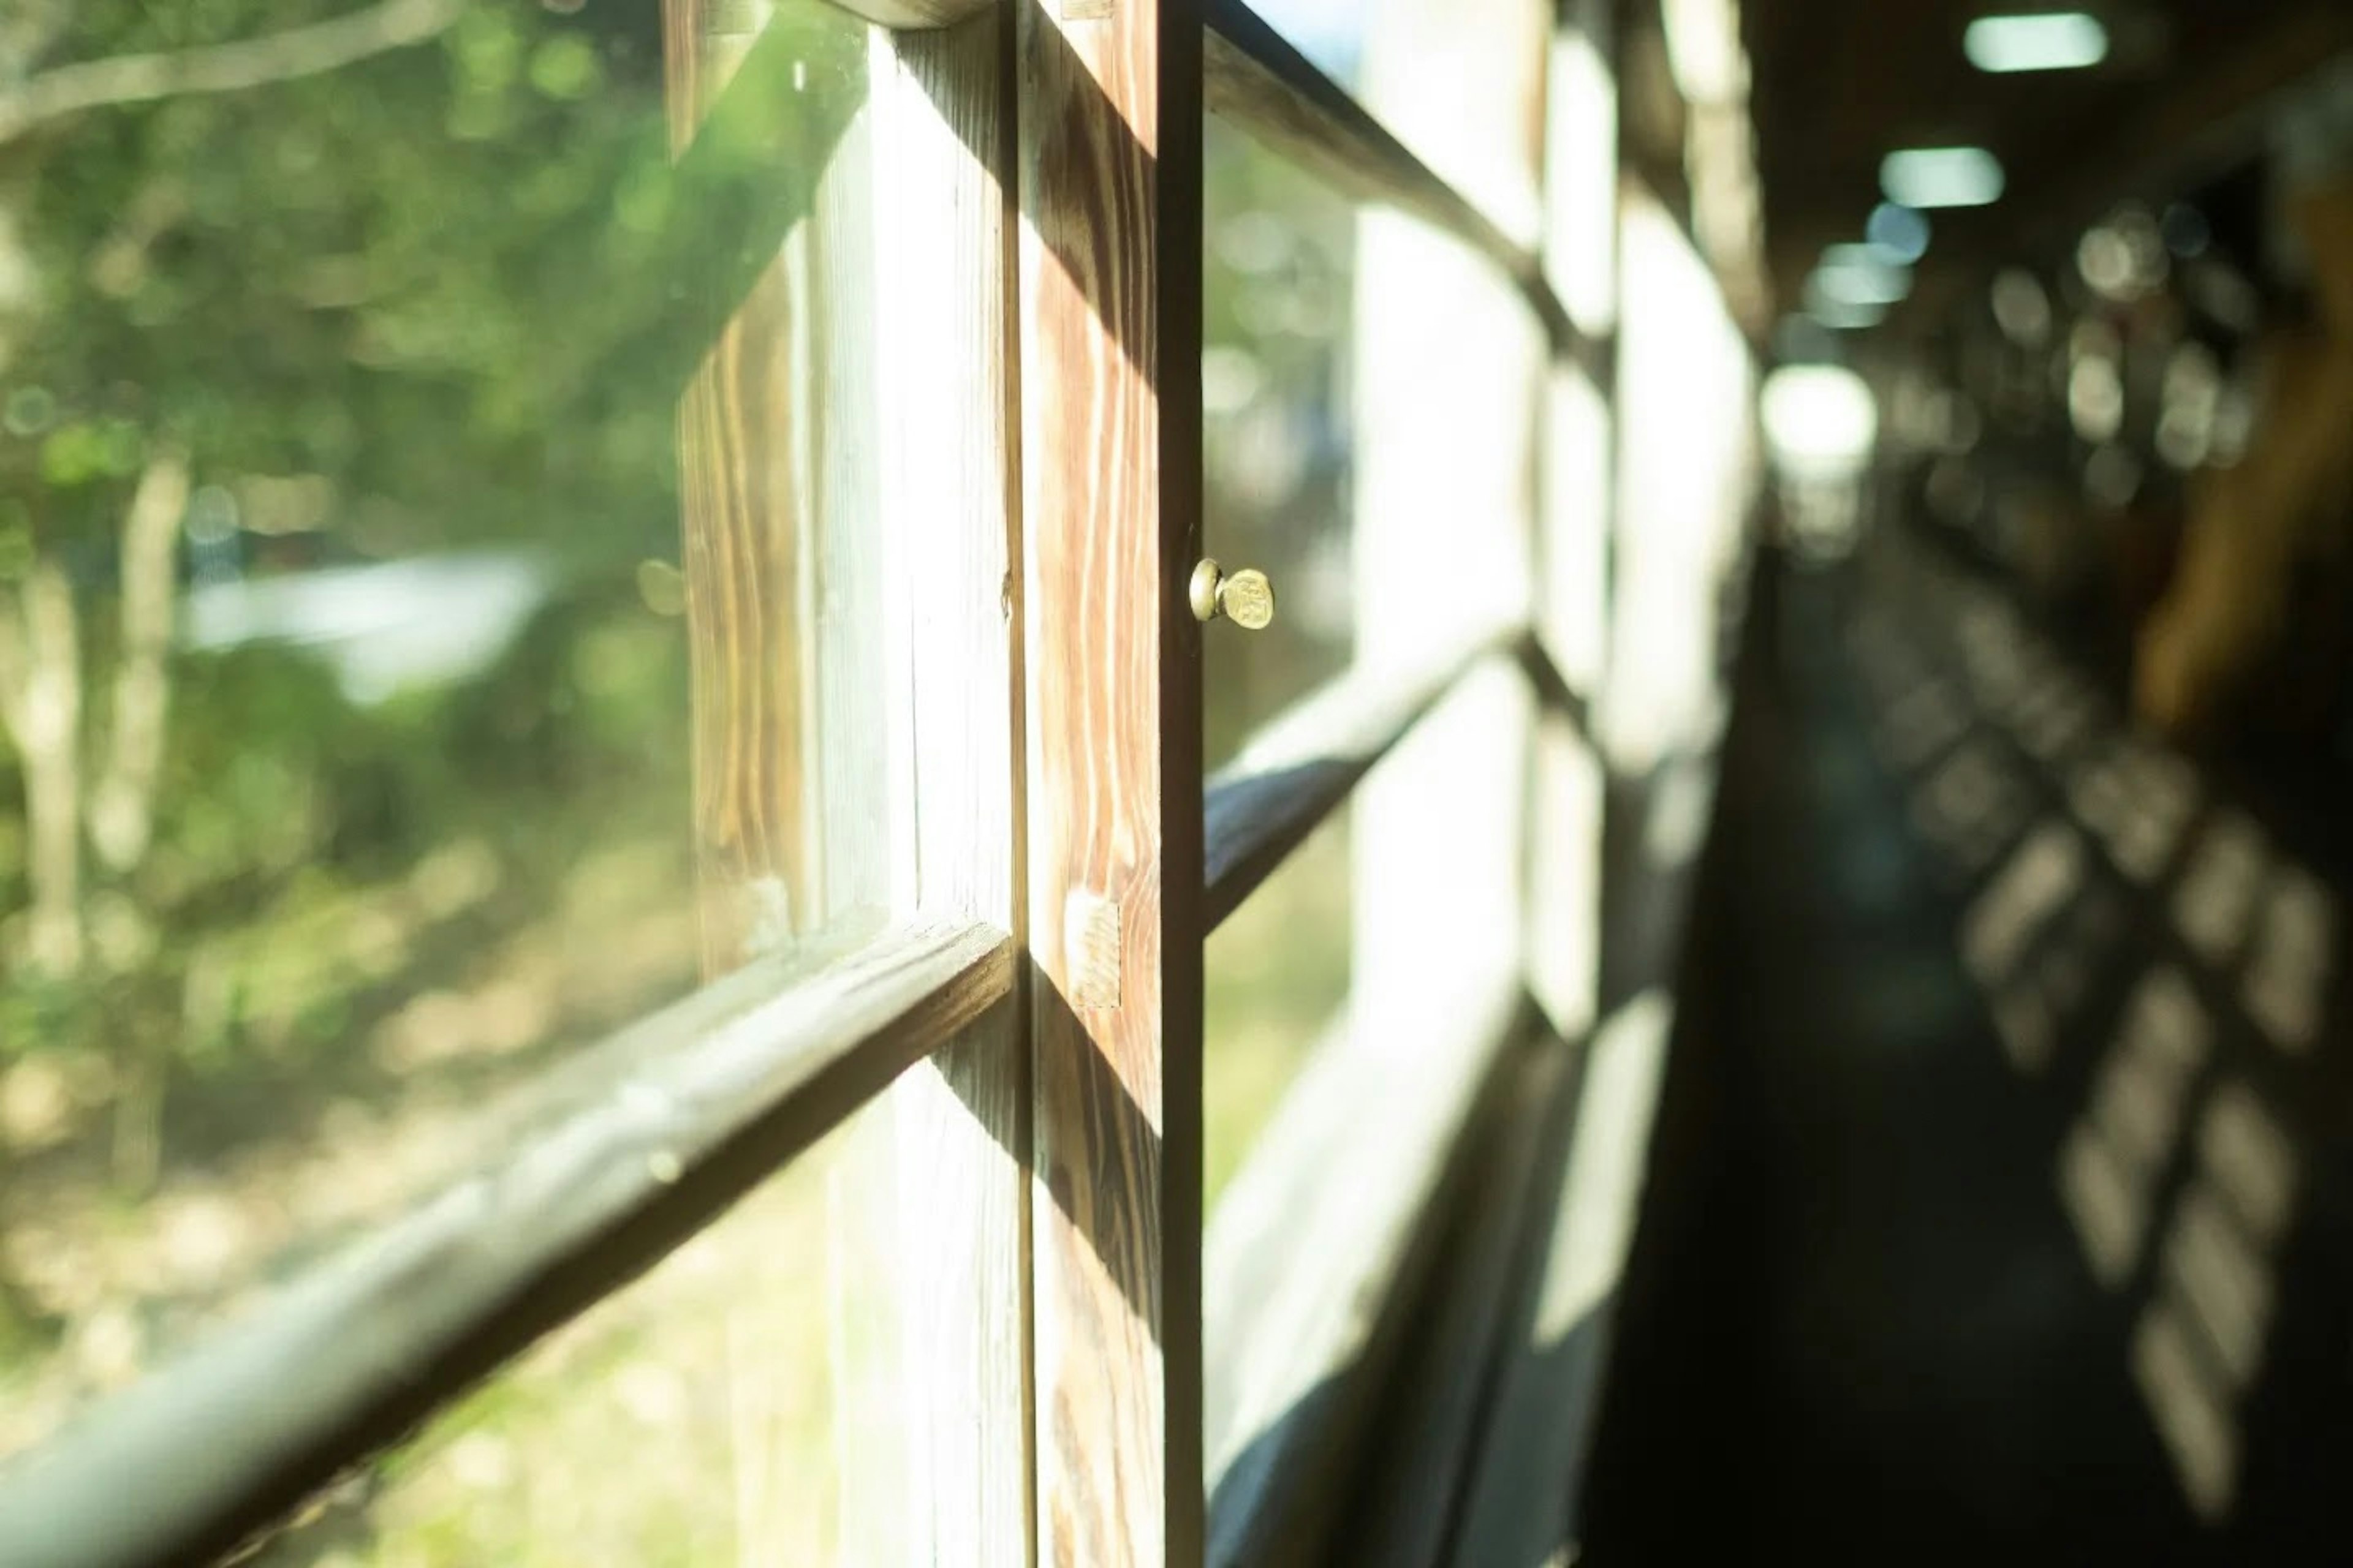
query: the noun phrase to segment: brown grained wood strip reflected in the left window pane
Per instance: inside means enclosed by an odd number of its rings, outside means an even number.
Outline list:
[[[729,0],[664,0],[671,148],[685,150],[758,40]],[[786,237],[678,409],[682,569],[694,682],[694,851],[704,973],[814,926],[821,879],[809,755],[805,487],[812,409],[807,226]]]

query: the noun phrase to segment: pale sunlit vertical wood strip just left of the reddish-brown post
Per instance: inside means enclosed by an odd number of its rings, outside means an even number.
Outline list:
[[[908,691],[901,910],[1019,931],[1012,14],[878,35],[880,501]],[[849,1561],[1026,1568],[1028,1034],[1019,997],[887,1095],[859,1180],[889,1255],[880,1441],[845,1453]],[[845,1547],[849,1542],[845,1540]]]

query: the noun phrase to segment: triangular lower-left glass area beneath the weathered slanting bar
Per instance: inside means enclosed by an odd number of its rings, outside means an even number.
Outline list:
[[[828,1319],[887,1305],[878,1260],[828,1225],[856,1126],[332,1493],[261,1563],[842,1561],[854,1401]]]

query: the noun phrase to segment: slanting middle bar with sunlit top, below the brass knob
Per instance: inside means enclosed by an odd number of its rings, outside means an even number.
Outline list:
[[[1207,788],[1209,926],[1221,926],[1473,665],[1525,637],[1494,632],[1424,665],[1351,670],[1252,736]]]

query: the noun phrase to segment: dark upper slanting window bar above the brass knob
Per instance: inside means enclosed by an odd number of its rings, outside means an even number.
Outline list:
[[[1527,240],[1511,235],[1433,172],[1245,0],[1205,0],[1205,12],[1209,113],[1235,122],[1351,197],[1395,207],[1461,240],[1511,277],[1555,355],[1579,353],[1577,327]]]

